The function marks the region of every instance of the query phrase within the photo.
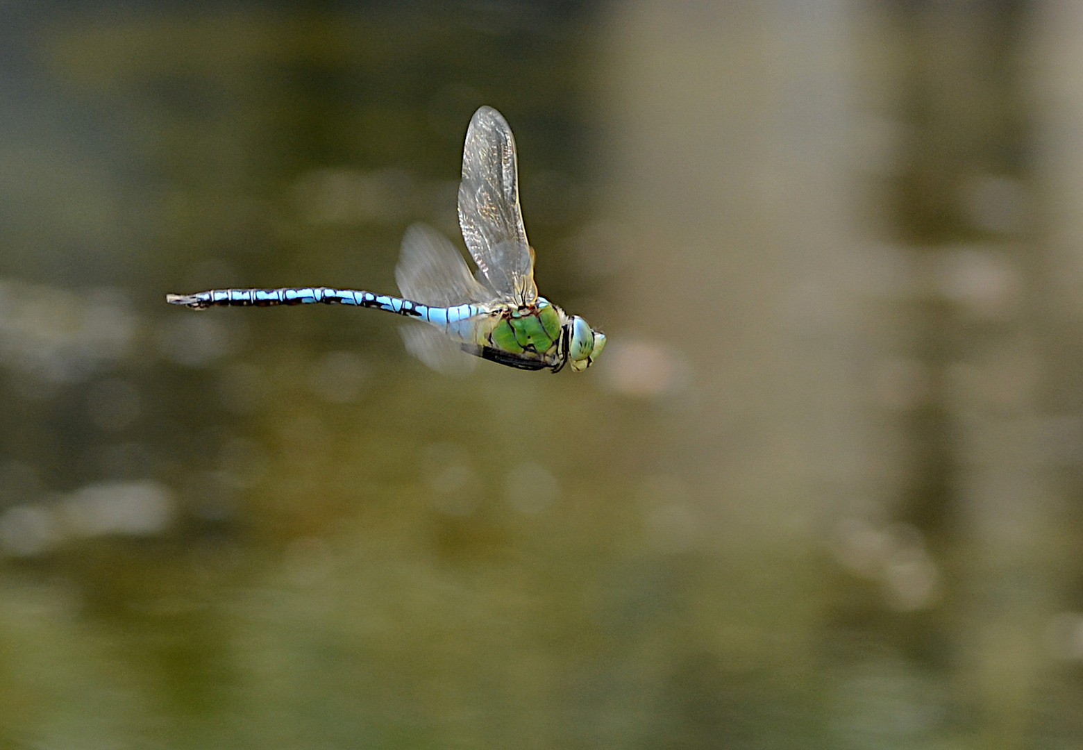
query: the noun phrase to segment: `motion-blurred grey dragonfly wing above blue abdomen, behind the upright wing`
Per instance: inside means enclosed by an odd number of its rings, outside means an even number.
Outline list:
[[[485,302],[493,298],[493,293],[471,275],[455,245],[425,224],[413,224],[403,235],[395,281],[403,297],[430,307]]]

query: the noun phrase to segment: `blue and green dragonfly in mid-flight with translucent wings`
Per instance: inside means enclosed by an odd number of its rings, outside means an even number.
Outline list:
[[[569,315],[534,284],[534,248],[519,205],[516,140],[499,112],[474,113],[462,147],[459,227],[478,266],[443,234],[413,224],[403,236],[395,281],[401,297],[362,289],[290,286],[169,294],[166,301],[197,310],[218,306],[352,305],[405,315],[407,349],[435,370],[454,372],[461,352],[520,370],[583,372],[605,347],[605,335]],[[469,361],[469,360],[468,360]],[[474,360],[477,361],[477,360]]]

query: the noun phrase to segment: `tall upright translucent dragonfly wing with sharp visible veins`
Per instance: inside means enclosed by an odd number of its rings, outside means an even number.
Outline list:
[[[519,208],[516,139],[493,107],[474,113],[462,147],[459,225],[478,269],[505,301],[537,298],[534,251]]]

